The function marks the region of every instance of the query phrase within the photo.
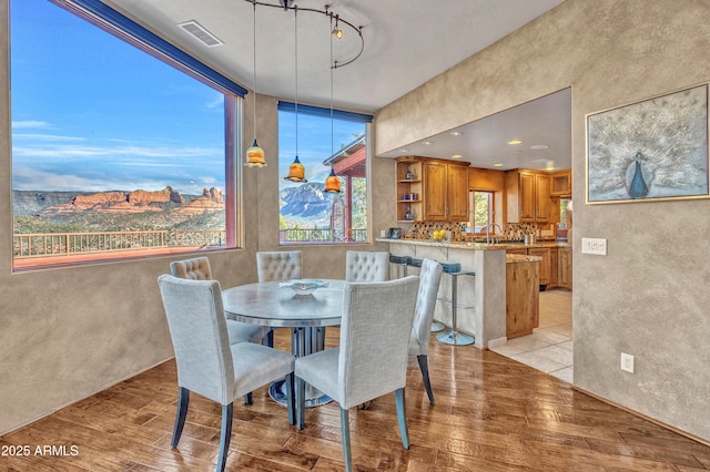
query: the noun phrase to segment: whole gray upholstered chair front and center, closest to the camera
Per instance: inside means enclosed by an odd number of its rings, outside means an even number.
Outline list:
[[[348,409],[395,392],[399,433],[409,449],[404,389],[419,277],[345,284],[339,347],[296,359],[296,417],[305,428],[305,383],[341,407],[343,454],[353,470]]]

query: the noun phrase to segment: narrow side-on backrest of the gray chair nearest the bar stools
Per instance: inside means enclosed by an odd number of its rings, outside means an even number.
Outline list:
[[[412,339],[418,345],[418,355],[426,356],[429,351],[429,335],[432,334],[432,320],[436,307],[436,295],[439,291],[439,281],[444,268],[433,259],[422,261],[419,270],[419,290],[417,304],[414,309],[414,325],[412,326]]]

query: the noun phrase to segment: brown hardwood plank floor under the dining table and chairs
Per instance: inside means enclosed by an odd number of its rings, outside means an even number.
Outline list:
[[[276,347],[290,334],[276,330]],[[351,411],[353,458],[361,471],[698,471],[710,447],[575,391],[569,383],[493,351],[432,337],[436,404],[416,360],[406,391],[412,447],[402,448],[394,394]],[[337,342],[328,329],[327,345]],[[176,401],[173,361],[0,438],[1,471],[210,471],[220,407],[196,394],[179,449],[170,448]],[[290,427],[266,389],[235,403],[229,470],[339,471],[337,404],[308,409],[306,429]],[[26,456],[8,456],[28,445]],[[45,452],[45,454],[38,453]],[[44,451],[43,447],[54,447]],[[61,448],[65,447],[65,448]],[[14,449],[17,452],[17,449]],[[21,451],[21,450],[20,450]],[[53,455],[51,454],[53,453]]]

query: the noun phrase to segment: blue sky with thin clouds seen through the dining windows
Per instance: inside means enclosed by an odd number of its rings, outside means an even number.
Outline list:
[[[11,45],[13,189],[224,189],[220,92],[48,0],[11,1]],[[278,126],[283,175],[295,155],[290,116]],[[336,122],[334,148],[362,130]],[[325,178],[329,155],[331,121],[298,115],[308,181]]]

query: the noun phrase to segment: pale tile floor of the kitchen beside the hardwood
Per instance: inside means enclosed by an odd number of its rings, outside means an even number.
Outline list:
[[[540,326],[491,349],[572,383],[572,294],[540,291]]]

